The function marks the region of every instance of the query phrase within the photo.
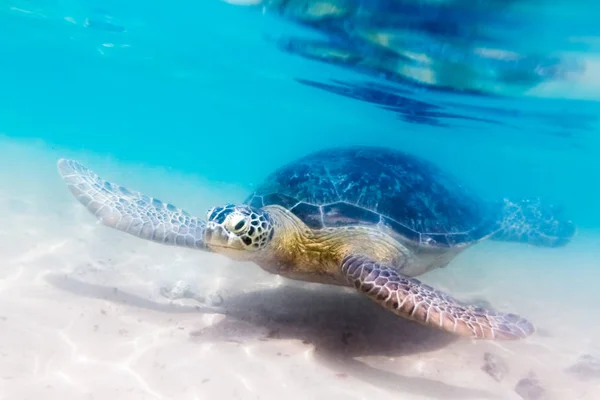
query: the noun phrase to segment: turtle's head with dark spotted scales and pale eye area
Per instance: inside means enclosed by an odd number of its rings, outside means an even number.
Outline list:
[[[267,247],[273,233],[269,214],[259,208],[227,204],[208,211],[205,240],[218,253],[236,259],[252,258],[248,252]]]

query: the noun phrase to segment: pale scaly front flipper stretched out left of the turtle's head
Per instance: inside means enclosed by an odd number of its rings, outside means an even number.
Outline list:
[[[73,196],[104,225],[166,245],[207,250],[204,221],[107,182],[76,161],[58,160],[58,171]]]

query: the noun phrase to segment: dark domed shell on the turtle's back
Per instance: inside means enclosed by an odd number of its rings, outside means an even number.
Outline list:
[[[498,216],[432,163],[383,147],[318,151],[274,171],[246,200],[280,205],[313,229],[376,225],[421,245],[491,234]]]

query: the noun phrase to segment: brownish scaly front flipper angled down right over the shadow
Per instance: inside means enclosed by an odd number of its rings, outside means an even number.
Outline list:
[[[451,296],[361,255],[349,255],[342,273],[354,287],[397,315],[455,335],[515,340],[535,329],[524,318],[465,305]]]

